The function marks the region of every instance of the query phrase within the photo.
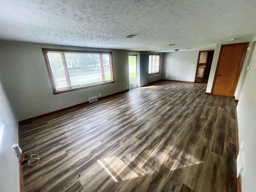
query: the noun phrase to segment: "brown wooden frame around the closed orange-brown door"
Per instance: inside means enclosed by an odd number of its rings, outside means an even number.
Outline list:
[[[247,50],[248,44],[249,44],[249,42],[244,42],[244,43],[232,43],[232,44],[223,44],[223,45],[221,45],[221,47],[220,47],[220,54],[219,54],[217,66],[216,66],[216,69],[215,69],[214,79],[213,79],[213,82],[212,82],[211,94],[212,94],[213,89],[214,89],[214,86],[215,86],[215,81],[216,81],[216,77],[217,77],[217,73],[218,73],[218,69],[219,69],[219,65],[220,65],[220,58],[221,58],[221,54],[222,54],[223,47],[235,46],[235,45],[245,45],[245,46],[244,46],[244,52],[243,52],[243,55],[242,55],[242,59],[241,59],[241,62],[240,62],[240,64],[239,64],[238,72],[237,72],[237,75],[236,75],[234,87],[233,87],[233,89],[232,89],[231,97],[234,96],[234,93],[235,93],[235,90],[236,90],[236,86],[237,86],[237,82],[238,82],[238,79],[239,79],[239,76],[240,76],[240,73],[241,73],[242,65],[243,65],[243,63],[244,63],[244,57],[245,57],[245,54],[246,54],[246,50]]]

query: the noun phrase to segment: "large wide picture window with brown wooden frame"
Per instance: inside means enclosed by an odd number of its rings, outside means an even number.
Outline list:
[[[114,82],[112,52],[43,48],[54,94]]]

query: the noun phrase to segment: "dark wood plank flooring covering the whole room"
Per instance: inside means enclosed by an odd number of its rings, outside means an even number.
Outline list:
[[[21,125],[24,192],[236,192],[236,103],[205,90],[162,80]]]

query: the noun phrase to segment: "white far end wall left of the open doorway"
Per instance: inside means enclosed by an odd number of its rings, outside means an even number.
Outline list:
[[[164,53],[162,79],[194,82],[198,54],[199,50]]]

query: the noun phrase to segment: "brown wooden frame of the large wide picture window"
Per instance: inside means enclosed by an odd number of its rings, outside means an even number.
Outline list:
[[[81,90],[81,89],[85,89],[85,88],[90,88],[90,87],[94,87],[94,86],[100,86],[100,85],[104,85],[104,84],[110,84],[110,83],[114,83],[114,70],[113,70],[113,59],[112,59],[112,52],[108,52],[108,51],[87,51],[87,50],[67,50],[67,49],[51,49],[51,48],[42,48],[43,54],[44,54],[44,60],[46,62],[46,67],[48,70],[48,74],[50,76],[50,81],[52,84],[52,89],[53,89],[53,93],[54,94],[60,94],[60,93],[66,93],[66,92],[70,92],[70,91],[75,91],[75,90]],[[110,80],[107,81],[102,81],[102,82],[97,82],[97,83],[91,83],[91,84],[86,84],[86,85],[82,85],[82,86],[74,86],[74,87],[68,87],[66,89],[62,89],[62,90],[58,90],[56,89],[55,86],[55,82],[54,82],[54,77],[52,74],[52,69],[50,67],[50,62],[48,60],[48,56],[47,53],[49,51],[56,51],[56,52],[74,52],[74,53],[89,53],[89,54],[110,54],[109,56],[109,62],[110,62]]]

